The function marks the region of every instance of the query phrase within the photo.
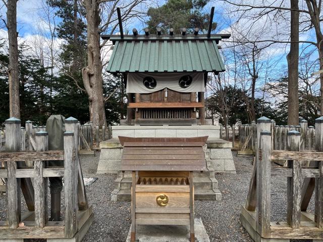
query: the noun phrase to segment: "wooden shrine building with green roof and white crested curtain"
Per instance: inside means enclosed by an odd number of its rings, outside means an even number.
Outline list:
[[[230,34],[211,34],[196,28],[188,34],[102,35],[114,44],[106,71],[123,74],[128,95],[126,124],[204,125],[204,92],[208,73],[225,71],[219,42]],[[198,113],[198,115],[197,115]]]

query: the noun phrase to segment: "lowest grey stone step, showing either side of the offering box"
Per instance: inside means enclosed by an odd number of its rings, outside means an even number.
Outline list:
[[[115,201],[131,201],[131,190],[125,189],[120,190],[116,196]],[[202,189],[194,191],[194,199],[195,200],[213,200],[213,201],[221,201],[222,194],[219,189],[210,190],[210,189]]]

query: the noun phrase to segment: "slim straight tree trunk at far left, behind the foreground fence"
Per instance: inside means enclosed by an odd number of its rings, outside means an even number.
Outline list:
[[[11,117],[20,118],[17,41],[17,0],[8,0],[7,27],[9,40],[9,110]]]

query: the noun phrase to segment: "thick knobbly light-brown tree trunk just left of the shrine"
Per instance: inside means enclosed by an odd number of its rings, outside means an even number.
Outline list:
[[[102,127],[106,126],[106,119],[100,55],[99,4],[98,1],[85,0],[84,5],[87,20],[88,65],[83,68],[82,77],[89,99],[90,120],[94,126]]]

